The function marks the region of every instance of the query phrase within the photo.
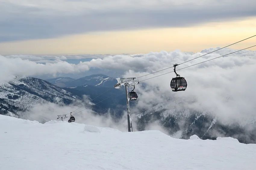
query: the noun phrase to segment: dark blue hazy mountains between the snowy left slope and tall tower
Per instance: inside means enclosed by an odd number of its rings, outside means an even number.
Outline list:
[[[47,81],[59,85],[81,98],[83,95],[87,95],[89,99],[93,100],[93,103],[97,103],[92,106],[92,109],[99,114],[111,112],[111,114],[113,113],[115,116],[120,117],[126,106],[125,90],[115,89],[114,85],[117,80],[104,74],[94,74],[76,80],[58,77]]]

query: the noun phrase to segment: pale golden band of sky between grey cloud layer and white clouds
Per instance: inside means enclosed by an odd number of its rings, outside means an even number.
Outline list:
[[[256,17],[225,22],[129,31],[74,34],[50,39],[0,43],[0,55],[135,54],[151,51],[200,52],[223,47],[256,34]],[[256,45],[256,37],[230,46],[242,49]],[[256,47],[250,50],[256,50]]]

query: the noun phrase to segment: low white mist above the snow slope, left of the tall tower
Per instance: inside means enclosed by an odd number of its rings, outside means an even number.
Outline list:
[[[31,121],[36,120],[40,123],[45,123],[51,120],[57,120],[57,115],[67,114],[68,118],[64,119],[64,121],[68,121],[70,116],[69,112],[79,108],[80,106],[80,101],[76,101],[76,103],[69,106],[59,106],[54,103],[40,104],[34,106],[29,111],[19,113],[19,115],[20,118],[23,119],[28,119]],[[72,115],[75,117],[76,123],[83,123],[97,127],[111,127],[121,131],[127,131],[127,116],[125,114],[123,118],[116,120],[115,118],[112,118],[109,112],[105,113],[104,115],[97,115],[89,107],[87,109],[82,107],[73,112]]]

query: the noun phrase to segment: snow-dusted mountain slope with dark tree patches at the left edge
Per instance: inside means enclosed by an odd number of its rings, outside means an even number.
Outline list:
[[[76,100],[72,93],[33,77],[17,78],[0,83],[0,114],[17,116],[18,111],[40,103],[70,104]]]

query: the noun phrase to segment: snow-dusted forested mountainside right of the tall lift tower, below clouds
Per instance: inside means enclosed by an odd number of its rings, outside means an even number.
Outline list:
[[[157,121],[170,135],[181,139],[188,139],[196,134],[201,139],[231,136],[243,143],[256,143],[256,123],[253,120],[246,124],[223,124],[217,116],[208,112],[176,109],[166,103],[157,104],[136,117],[139,130],[145,130],[148,124]]]

